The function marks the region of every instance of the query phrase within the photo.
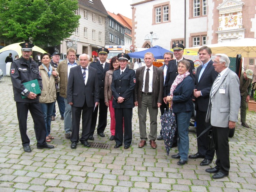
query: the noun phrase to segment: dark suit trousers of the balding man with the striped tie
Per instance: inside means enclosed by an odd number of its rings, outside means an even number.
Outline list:
[[[91,128],[91,117],[93,113],[93,107],[88,107],[86,102],[83,107],[71,107],[72,109],[72,134],[70,137],[71,142],[78,143],[79,141],[79,129],[80,119],[82,113],[82,134],[80,141],[88,140]]]

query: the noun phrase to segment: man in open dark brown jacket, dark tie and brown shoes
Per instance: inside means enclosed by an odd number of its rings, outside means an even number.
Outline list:
[[[134,104],[138,106],[139,134],[141,142],[139,148],[144,147],[150,139],[150,146],[156,149],[157,114],[163,101],[163,70],[153,66],[154,55],[147,52],[144,56],[144,67],[136,69],[136,85],[134,90]],[[147,110],[150,114],[150,134],[147,138],[146,119]]]

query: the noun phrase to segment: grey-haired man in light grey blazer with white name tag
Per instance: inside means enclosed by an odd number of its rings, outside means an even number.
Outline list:
[[[240,91],[239,78],[229,67],[230,60],[225,54],[216,54],[213,67],[219,73],[210,91],[210,101],[206,114],[206,122],[213,125],[213,138],[217,160],[214,168],[205,171],[215,173],[213,179],[228,176],[229,161],[229,129],[234,129],[238,120]]]

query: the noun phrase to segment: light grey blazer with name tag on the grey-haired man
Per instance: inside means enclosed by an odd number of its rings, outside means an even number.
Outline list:
[[[225,93],[220,93],[220,89],[225,89]],[[210,91],[206,122],[210,122],[214,127],[228,127],[229,121],[237,122],[241,97],[236,73],[228,68],[219,80],[214,93],[212,91],[213,87]]]

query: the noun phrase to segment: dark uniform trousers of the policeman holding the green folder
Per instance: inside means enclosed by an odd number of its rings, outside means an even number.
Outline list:
[[[28,146],[30,143],[27,135],[28,110],[33,118],[37,146],[44,145],[46,142],[46,124],[44,122],[44,117],[39,102],[16,102],[16,108],[22,145]]]

